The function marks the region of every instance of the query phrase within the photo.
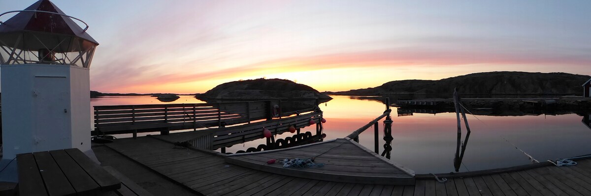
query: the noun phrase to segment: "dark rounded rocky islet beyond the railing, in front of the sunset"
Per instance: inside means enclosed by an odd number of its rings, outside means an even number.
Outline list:
[[[205,100],[332,99],[310,86],[282,79],[231,81],[195,97]]]

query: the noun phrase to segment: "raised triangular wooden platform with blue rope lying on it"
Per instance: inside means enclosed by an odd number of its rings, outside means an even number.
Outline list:
[[[284,168],[283,164],[267,164],[270,159],[280,158],[315,158],[314,163],[324,165]],[[233,154],[226,156],[226,162],[291,177],[348,183],[414,185],[414,171],[395,164],[350,139]]]

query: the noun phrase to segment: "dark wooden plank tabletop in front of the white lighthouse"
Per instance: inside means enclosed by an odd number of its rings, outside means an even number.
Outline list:
[[[121,188],[121,181],[79,149],[17,155],[20,195],[96,195]]]

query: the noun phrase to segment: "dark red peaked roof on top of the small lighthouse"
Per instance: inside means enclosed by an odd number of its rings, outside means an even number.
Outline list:
[[[97,43],[89,34],[87,34],[70,17],[66,17],[64,12],[57,8],[48,0],[40,0],[35,4],[24,9],[25,11],[47,11],[47,12],[19,12],[14,17],[0,24],[0,34],[14,32],[47,32],[50,34],[64,34],[83,38],[95,44]]]

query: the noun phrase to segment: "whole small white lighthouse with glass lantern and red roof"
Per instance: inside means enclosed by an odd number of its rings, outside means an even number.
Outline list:
[[[89,67],[98,43],[85,22],[48,0],[2,15],[12,12],[17,14],[0,24],[0,165],[26,152],[92,152]]]

